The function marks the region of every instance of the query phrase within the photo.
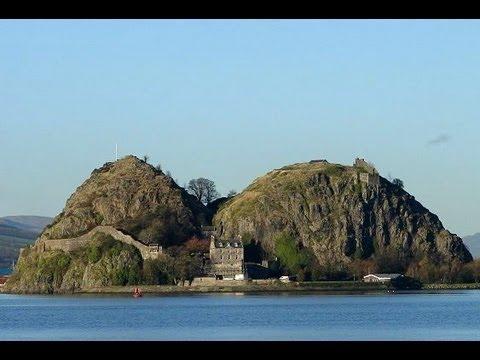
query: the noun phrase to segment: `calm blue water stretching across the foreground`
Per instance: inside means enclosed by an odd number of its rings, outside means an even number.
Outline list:
[[[140,299],[0,294],[0,339],[480,340],[480,291]]]

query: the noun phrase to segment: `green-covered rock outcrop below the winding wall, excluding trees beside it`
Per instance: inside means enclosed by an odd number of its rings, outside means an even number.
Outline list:
[[[7,287],[22,293],[56,293],[138,284],[142,263],[134,246],[97,234],[88,245],[72,253],[24,250]]]

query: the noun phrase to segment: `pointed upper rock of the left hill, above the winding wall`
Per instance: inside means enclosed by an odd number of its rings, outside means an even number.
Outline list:
[[[198,233],[206,208],[153,166],[127,156],[95,169],[41,238],[82,235],[111,225],[144,243],[181,243]]]

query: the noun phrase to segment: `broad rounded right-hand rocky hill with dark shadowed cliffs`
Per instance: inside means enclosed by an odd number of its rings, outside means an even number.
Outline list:
[[[320,263],[396,253],[407,259],[468,262],[462,240],[403,189],[379,177],[360,180],[363,169],[305,163],[274,170],[223,204],[214,217],[222,236],[260,241],[267,253],[274,237],[294,234]]]

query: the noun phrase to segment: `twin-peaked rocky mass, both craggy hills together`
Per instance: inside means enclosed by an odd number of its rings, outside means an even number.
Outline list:
[[[35,246],[21,252],[4,289],[53,293],[150,281],[154,277],[145,274],[151,263],[135,240],[164,248],[181,245],[199,235],[213,213],[217,236],[240,235],[245,245],[256,240],[245,247],[247,257],[255,250],[256,262],[276,258],[285,239],[290,253],[295,253],[294,242],[312,269],[320,270],[332,264],[349,268],[357,264],[353,260],[377,266],[382,259],[401,259],[404,269],[472,260],[462,240],[445,230],[436,215],[359,159],[354,166],[325,160],[285,166],[206,207],[169,176],[127,156],[94,170],[76,189]],[[90,235],[99,225],[112,230]],[[130,235],[133,243],[119,241],[112,232]],[[175,256],[166,251],[157,260],[172,264]],[[162,269],[175,272],[171,266]]]

